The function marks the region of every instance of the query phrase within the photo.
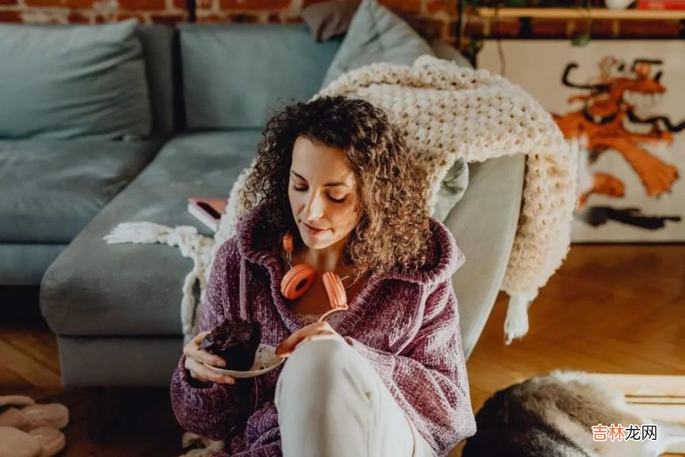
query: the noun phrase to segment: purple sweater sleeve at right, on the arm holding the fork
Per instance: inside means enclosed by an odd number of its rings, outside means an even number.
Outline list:
[[[349,336],[345,340],[371,362],[438,456],[475,434],[451,279],[429,295],[421,328],[400,354],[373,349]]]

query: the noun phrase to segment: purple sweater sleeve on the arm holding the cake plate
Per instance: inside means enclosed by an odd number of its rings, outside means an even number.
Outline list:
[[[216,252],[207,284],[206,302],[200,317],[200,331],[212,330],[221,323],[229,309],[229,280],[238,275],[238,247],[235,237]],[[184,367],[186,356],[179,360],[171,378],[171,406],[179,424],[186,430],[213,440],[223,439],[247,406],[249,386],[209,382],[201,384]]]

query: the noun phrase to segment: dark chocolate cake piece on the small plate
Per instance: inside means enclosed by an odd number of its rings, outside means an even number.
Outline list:
[[[242,319],[225,321],[205,336],[200,349],[223,358],[227,370],[247,371],[255,361],[255,354],[262,339],[258,322]]]

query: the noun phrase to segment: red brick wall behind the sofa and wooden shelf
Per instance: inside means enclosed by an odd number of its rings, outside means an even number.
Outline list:
[[[0,22],[101,23],[136,17],[143,23],[177,23],[190,16],[187,0],[0,0]],[[302,8],[321,0],[195,0],[198,22],[292,23]],[[427,38],[455,42],[456,0],[379,0]],[[485,20],[468,15],[468,37],[570,38],[584,33],[584,20]],[[608,21],[590,23],[593,38],[677,38],[683,21]]]

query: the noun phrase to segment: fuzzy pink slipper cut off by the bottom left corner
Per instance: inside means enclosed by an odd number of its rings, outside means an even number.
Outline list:
[[[0,456],[54,457],[66,445],[64,434],[49,427],[23,432],[12,427],[0,427]]]

